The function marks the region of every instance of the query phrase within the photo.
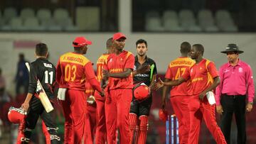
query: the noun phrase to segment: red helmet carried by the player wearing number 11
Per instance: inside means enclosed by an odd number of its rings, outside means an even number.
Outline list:
[[[11,123],[21,123],[21,121],[25,118],[26,111],[21,108],[15,108],[11,106],[8,112],[8,119]]]

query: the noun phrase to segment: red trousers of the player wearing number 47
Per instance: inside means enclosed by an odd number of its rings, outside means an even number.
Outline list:
[[[178,138],[179,143],[188,143],[188,132],[190,127],[190,118],[188,110],[188,101],[190,96],[171,96],[171,106],[178,118]]]

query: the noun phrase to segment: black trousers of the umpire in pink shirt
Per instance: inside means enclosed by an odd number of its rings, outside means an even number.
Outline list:
[[[243,95],[227,95],[222,94],[220,97],[221,106],[223,106],[223,114],[220,118],[220,128],[223,131],[225,140],[230,144],[230,128],[235,113],[235,121],[238,128],[238,144],[246,143],[245,130],[245,98]]]

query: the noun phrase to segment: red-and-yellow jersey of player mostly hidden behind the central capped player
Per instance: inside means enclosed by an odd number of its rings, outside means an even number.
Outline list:
[[[107,61],[107,57],[109,57],[109,54],[103,54],[101,55],[97,60],[97,80],[100,82],[102,80],[102,69],[104,67],[104,64]]]

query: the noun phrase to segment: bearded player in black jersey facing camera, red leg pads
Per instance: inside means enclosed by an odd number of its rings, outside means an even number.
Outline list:
[[[137,56],[135,57],[133,72],[134,84],[144,82],[144,84],[150,87],[156,79],[156,62],[146,56],[146,52],[148,50],[146,40],[137,40],[136,49]],[[145,72],[139,72],[139,67],[142,66],[149,68],[149,70],[146,70]],[[130,143],[146,143],[146,133],[149,127],[149,111],[151,104],[151,94],[149,94],[149,97],[143,101],[137,101],[133,97],[129,113],[129,126],[132,134]]]

